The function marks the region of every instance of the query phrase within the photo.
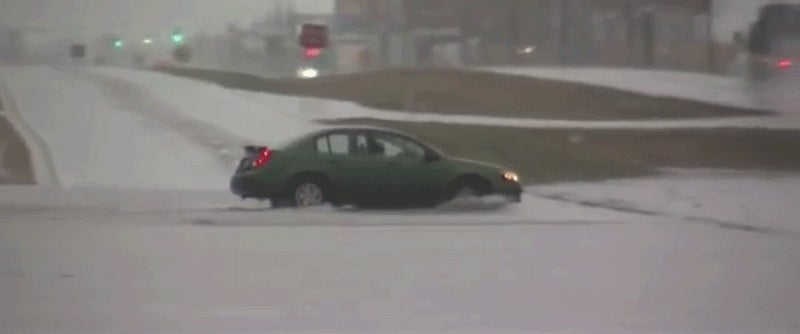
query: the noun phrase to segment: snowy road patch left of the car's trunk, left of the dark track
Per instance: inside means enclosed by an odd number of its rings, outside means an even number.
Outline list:
[[[230,165],[92,81],[45,67],[0,67],[23,120],[44,138],[65,186],[226,189]]]

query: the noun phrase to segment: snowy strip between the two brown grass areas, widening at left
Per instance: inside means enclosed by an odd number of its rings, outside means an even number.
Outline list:
[[[92,72],[125,80],[148,89],[162,101],[170,101],[182,115],[212,124],[241,137],[270,142],[296,131],[308,129],[315,121],[347,118],[375,118],[406,122],[490,125],[521,128],[584,128],[584,129],[670,129],[670,128],[770,128],[798,129],[800,117],[735,117],[702,120],[644,121],[566,121],[529,118],[500,118],[472,115],[410,113],[365,108],[354,103],[315,98],[230,90],[218,85],[178,78],[167,74],[101,68]],[[623,73],[625,73],[623,71]],[[669,72],[665,78],[669,78]],[[681,74],[674,74],[681,78]],[[702,78],[702,75],[699,75]],[[684,78],[685,80],[687,78]],[[691,79],[689,77],[688,79]],[[665,81],[665,80],[659,80]],[[688,81],[688,80],[687,80]],[[742,98],[736,94],[719,94],[719,99]],[[741,101],[740,101],[741,102]],[[226,113],[221,113],[225,110]],[[235,117],[228,117],[235,115]],[[800,114],[799,114],[800,115]],[[280,131],[275,132],[276,129]],[[275,136],[274,134],[277,134]]]

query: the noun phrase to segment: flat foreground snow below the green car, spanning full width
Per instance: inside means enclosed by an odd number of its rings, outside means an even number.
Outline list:
[[[109,196],[4,211],[4,332],[800,329],[796,238],[536,197],[477,214],[195,207],[212,193],[105,211],[168,192],[83,191]]]

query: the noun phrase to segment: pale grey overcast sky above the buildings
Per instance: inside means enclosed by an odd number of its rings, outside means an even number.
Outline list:
[[[0,22],[50,27],[71,33],[114,31],[127,36],[218,30],[229,22],[250,22],[280,0],[0,0]],[[768,0],[715,0],[717,38],[730,39]],[[797,0],[789,0],[796,2]],[[331,12],[333,0],[292,0],[302,12]]]

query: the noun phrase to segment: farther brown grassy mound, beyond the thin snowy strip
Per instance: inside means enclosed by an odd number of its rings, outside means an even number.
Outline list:
[[[387,70],[300,80],[175,67],[154,70],[234,89],[351,101],[377,109],[442,114],[560,120],[686,119],[771,114],[586,84],[476,71]]]

